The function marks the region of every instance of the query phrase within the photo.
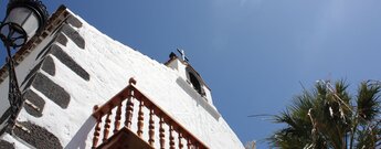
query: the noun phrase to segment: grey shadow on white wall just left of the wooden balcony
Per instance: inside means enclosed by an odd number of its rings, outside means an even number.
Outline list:
[[[80,130],[74,135],[72,140],[67,143],[65,149],[85,149],[86,139],[88,137],[88,134],[94,129],[95,124],[96,124],[96,119],[93,116],[88,117],[85,124],[82,125]]]

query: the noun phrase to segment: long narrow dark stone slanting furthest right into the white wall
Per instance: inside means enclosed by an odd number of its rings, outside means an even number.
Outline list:
[[[82,68],[82,66],[80,66],[71,56],[68,56],[67,53],[61,47],[54,47],[50,53],[57,57],[63,64],[65,64],[83,79],[89,81],[89,74],[84,68]]]

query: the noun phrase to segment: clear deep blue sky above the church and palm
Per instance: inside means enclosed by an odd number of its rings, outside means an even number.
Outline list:
[[[379,0],[45,0],[159,61],[177,47],[212,89],[214,105],[242,142],[281,127],[256,114],[278,114],[317,79],[356,89],[381,79]],[[1,1],[0,14],[6,1]],[[0,62],[4,62],[1,51]]]

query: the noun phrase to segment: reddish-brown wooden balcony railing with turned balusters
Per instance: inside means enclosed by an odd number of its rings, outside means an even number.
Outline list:
[[[183,126],[181,126],[180,124],[178,124],[173,118],[171,118],[169,115],[167,115],[162,109],[160,109],[160,107],[158,107],[152,100],[150,100],[149,98],[147,98],[147,96],[145,96],[141,92],[139,92],[139,89],[136,88],[135,86],[136,81],[135,79],[130,79],[129,81],[129,86],[126,87],[126,89],[121,91],[119,94],[117,94],[116,96],[114,96],[110,100],[108,100],[104,106],[102,107],[97,107],[94,106],[94,113],[93,113],[93,117],[96,118],[96,126],[95,126],[95,130],[94,130],[94,137],[93,137],[93,146],[92,148],[95,149],[98,147],[98,141],[100,140],[100,131],[103,129],[103,138],[102,138],[102,143],[99,146],[104,146],[107,145],[107,140],[109,140],[109,131],[110,131],[110,125],[112,123],[114,124],[114,130],[113,134],[118,134],[119,129],[120,129],[120,124],[121,121],[121,110],[125,110],[125,121],[124,121],[124,127],[127,127],[129,129],[130,132],[131,131],[131,127],[133,127],[133,118],[134,118],[134,104],[136,102],[139,102],[138,105],[138,110],[137,111],[137,131],[136,135],[140,138],[140,139],[146,139],[145,137],[142,137],[144,131],[147,131],[147,129],[144,128],[144,121],[145,121],[145,114],[144,110],[148,109],[149,110],[149,119],[148,119],[148,143],[149,146],[151,146],[152,148],[155,146],[155,117],[159,118],[159,148],[160,149],[165,149],[166,148],[166,143],[167,146],[169,146],[169,149],[174,149],[174,148],[179,148],[179,149],[208,149],[208,147],[205,145],[203,145],[200,140],[198,140],[198,138],[195,138],[193,135],[191,135],[189,131],[187,131],[187,129],[184,129]],[[127,95],[126,95],[127,94]],[[127,97],[127,98],[126,98]],[[126,102],[126,108],[123,108],[123,103],[124,100]],[[112,121],[112,115],[113,115],[113,110],[114,108],[116,108],[115,110],[115,121]],[[105,119],[105,124],[104,124],[104,128],[100,128],[103,125],[103,119]],[[147,118],[146,118],[147,119]],[[135,120],[135,119],[134,119]],[[168,142],[166,142],[166,129],[168,126]],[[147,127],[146,127],[147,128]],[[174,132],[173,132],[174,131]],[[176,138],[176,132],[177,132],[177,137]],[[177,140],[177,141],[176,141]],[[147,140],[145,140],[147,141]],[[114,143],[114,141],[110,141]],[[119,142],[116,142],[119,143]],[[178,145],[177,145],[178,143]]]

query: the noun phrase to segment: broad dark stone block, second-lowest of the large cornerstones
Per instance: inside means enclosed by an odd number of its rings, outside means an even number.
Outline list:
[[[32,86],[60,107],[67,108],[71,96],[63,87],[55,84],[47,76],[36,73]]]

